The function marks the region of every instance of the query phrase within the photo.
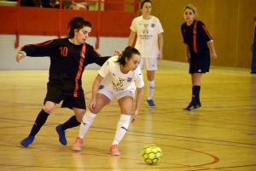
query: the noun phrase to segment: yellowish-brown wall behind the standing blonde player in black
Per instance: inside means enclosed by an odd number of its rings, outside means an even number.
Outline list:
[[[183,8],[191,3],[214,40],[218,59],[213,66],[250,68],[256,0],[152,0],[152,12],[165,30],[164,58],[185,61],[180,26]]]

